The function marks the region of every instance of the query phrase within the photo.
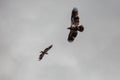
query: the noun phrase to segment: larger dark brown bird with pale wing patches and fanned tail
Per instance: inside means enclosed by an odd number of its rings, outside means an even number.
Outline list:
[[[68,35],[68,41],[72,42],[76,38],[78,31],[83,32],[84,27],[83,25],[80,25],[79,21],[79,14],[78,14],[78,9],[73,8],[72,14],[71,14],[71,26],[68,27],[67,29],[70,29],[70,33]]]

